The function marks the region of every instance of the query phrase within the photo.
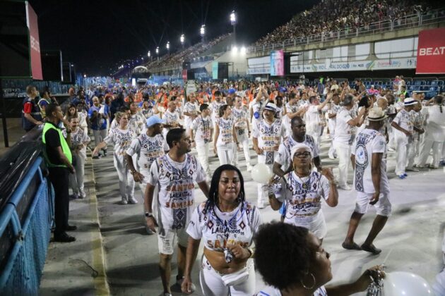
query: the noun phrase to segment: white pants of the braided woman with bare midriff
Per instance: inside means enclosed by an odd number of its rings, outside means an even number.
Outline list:
[[[207,258],[203,256],[201,271],[199,271],[199,282],[203,295],[206,296],[244,296],[254,295],[255,293],[255,268],[252,259],[247,260],[247,271],[249,271],[249,278],[242,283],[232,286],[224,285],[222,276],[215,271],[208,262]]]

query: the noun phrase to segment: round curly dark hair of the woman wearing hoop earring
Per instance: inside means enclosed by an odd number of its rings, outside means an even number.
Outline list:
[[[268,285],[284,290],[304,278],[315,257],[308,233],[307,228],[283,222],[261,226],[254,238],[255,269]]]

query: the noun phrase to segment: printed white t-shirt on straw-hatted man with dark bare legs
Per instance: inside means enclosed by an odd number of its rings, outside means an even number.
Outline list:
[[[386,175],[386,139],[376,130],[365,128],[357,137],[351,148],[355,155],[354,187],[357,192],[374,193],[372,183],[372,154],[383,153],[380,170],[380,192],[389,193],[388,175]]]

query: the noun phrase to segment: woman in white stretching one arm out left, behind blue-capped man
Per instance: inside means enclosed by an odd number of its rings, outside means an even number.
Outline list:
[[[119,190],[121,192],[121,204],[137,204],[134,198],[134,180],[129,168],[126,165],[125,155],[129,149],[131,141],[136,138],[136,133],[128,128],[129,115],[127,113],[117,112],[115,120],[119,122],[119,126],[110,129],[107,137],[100,142],[94,149],[93,155],[107,144],[114,145],[114,168],[116,168],[119,176]],[[133,156],[133,163],[136,162],[136,155]]]

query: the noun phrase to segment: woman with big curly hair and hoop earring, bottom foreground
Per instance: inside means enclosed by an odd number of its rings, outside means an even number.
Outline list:
[[[255,268],[268,284],[256,296],[352,295],[384,278],[381,266],[365,270],[343,285],[324,285],[333,278],[331,255],[307,228],[268,223],[255,236]]]

